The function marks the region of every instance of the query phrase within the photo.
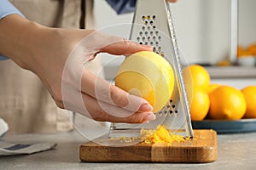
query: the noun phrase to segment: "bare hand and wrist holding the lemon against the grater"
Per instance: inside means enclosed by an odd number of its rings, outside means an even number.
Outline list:
[[[38,75],[56,105],[96,121],[154,120],[152,106],[145,99],[126,93],[84,67],[98,53],[142,50],[151,48],[96,31],[40,26],[16,14],[0,21],[0,54]]]

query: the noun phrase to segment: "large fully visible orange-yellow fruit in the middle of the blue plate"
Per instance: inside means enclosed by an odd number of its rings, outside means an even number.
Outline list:
[[[244,116],[247,104],[240,90],[220,85],[209,93],[212,119],[239,120]]]

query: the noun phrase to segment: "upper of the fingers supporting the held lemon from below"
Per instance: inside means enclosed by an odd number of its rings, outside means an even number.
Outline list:
[[[153,107],[147,100],[126,93],[124,90],[96,77],[90,71],[84,71],[81,80],[81,91],[91,97],[110,105],[123,107],[128,111],[152,111]]]

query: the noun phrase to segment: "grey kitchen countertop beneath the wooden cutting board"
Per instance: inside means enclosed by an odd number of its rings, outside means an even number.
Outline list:
[[[6,142],[53,142],[55,149],[44,152],[0,157],[0,169],[254,169],[256,162],[256,133],[218,134],[218,160],[212,163],[94,163],[79,161],[79,145],[86,139],[77,132],[56,134],[22,134],[5,136]]]

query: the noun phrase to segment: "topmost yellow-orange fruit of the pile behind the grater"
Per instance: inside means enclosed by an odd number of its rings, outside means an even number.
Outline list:
[[[189,65],[183,69],[184,82],[192,81],[192,86],[205,88],[206,90],[210,84],[210,75],[208,71],[201,65]]]

